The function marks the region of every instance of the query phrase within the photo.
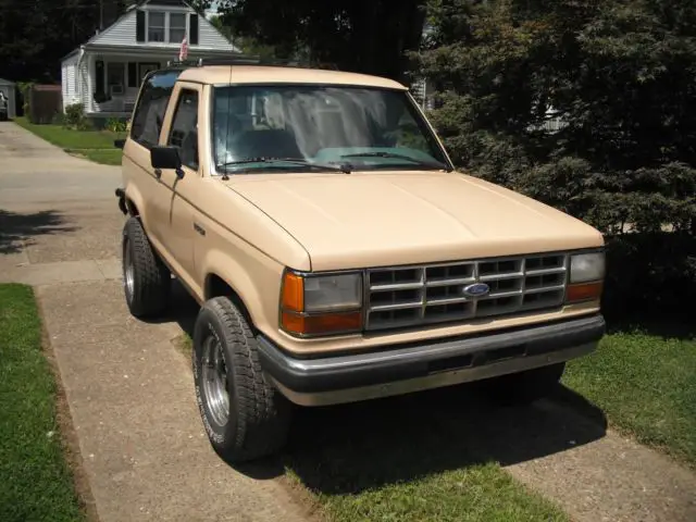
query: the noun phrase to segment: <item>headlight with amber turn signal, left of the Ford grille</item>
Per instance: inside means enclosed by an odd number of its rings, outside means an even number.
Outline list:
[[[362,274],[303,275],[286,271],[281,326],[299,336],[355,333],[362,328]]]

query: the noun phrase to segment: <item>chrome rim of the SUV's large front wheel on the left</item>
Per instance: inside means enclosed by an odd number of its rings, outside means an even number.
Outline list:
[[[213,335],[208,336],[203,344],[202,373],[203,395],[210,417],[215,424],[224,426],[229,418],[227,365],[222,345]]]

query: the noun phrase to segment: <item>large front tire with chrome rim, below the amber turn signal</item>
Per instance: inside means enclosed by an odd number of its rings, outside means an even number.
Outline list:
[[[285,445],[290,405],[268,381],[254,334],[228,298],[213,298],[201,308],[191,363],[203,426],[217,455],[240,463]]]

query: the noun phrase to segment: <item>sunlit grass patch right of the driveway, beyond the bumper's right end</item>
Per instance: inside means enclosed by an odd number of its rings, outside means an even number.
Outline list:
[[[638,442],[696,467],[696,339],[629,331],[569,364],[567,386]]]

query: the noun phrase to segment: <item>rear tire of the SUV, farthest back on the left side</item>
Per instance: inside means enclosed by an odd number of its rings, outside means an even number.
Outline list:
[[[136,318],[158,315],[166,308],[172,274],[164,265],[137,217],[123,228],[123,288],[130,313]]]

